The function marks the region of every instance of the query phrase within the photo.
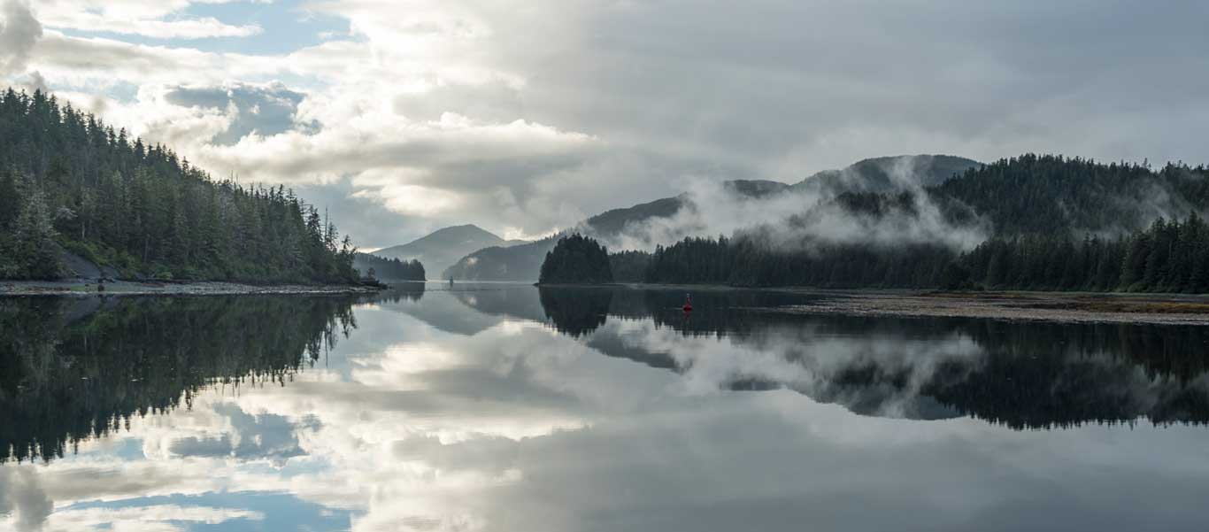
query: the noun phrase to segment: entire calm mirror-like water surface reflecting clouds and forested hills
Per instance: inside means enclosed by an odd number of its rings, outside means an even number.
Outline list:
[[[681,297],[0,300],[0,530],[1209,522],[1209,328]]]

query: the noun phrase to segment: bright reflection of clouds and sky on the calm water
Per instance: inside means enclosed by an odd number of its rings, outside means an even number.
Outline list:
[[[1018,432],[920,404],[938,372],[988,360],[960,331],[808,320],[687,335],[613,317],[577,339],[522,318],[530,307],[473,329],[434,326],[449,312],[422,310],[458,297],[358,307],[352,337],[284,386],[210,389],[79,455],[0,465],[0,509],[12,508],[0,527],[237,528],[280,513],[254,493],[347,514],[357,531],[1194,530],[1204,519],[1202,427]],[[177,520],[152,515],[177,507],[147,504],[207,493],[248,496],[179,507]]]

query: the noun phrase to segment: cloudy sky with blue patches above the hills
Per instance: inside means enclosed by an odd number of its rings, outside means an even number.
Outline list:
[[[866,157],[1209,162],[1209,4],[0,0],[0,85],[363,248]]]

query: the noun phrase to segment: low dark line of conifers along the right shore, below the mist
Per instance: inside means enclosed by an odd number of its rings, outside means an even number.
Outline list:
[[[958,253],[941,244],[832,244],[799,251],[746,238],[686,238],[609,258],[621,282],[1209,293],[1209,226],[1196,213],[1123,237],[1026,235]]]

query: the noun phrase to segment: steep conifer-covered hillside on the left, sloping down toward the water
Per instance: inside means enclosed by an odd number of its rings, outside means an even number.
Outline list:
[[[65,248],[123,277],[342,283],[353,245],[282,186],[213,180],[41,92],[0,94],[0,278]]]

